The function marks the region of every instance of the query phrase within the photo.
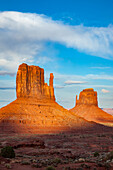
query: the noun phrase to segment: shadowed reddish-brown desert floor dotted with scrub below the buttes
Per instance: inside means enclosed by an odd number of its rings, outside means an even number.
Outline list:
[[[0,170],[112,170],[113,132],[0,135],[0,149],[12,146],[15,158],[0,157]]]

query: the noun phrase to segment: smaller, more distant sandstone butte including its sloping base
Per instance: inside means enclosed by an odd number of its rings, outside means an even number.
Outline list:
[[[92,88],[80,92],[79,99],[76,95],[75,107],[70,111],[88,121],[113,126],[113,116],[98,107],[97,92]]]

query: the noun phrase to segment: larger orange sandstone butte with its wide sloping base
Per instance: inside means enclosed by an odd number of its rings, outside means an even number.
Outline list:
[[[49,85],[44,69],[38,66],[19,66],[16,76],[17,99],[0,109],[0,133],[59,133],[70,130],[104,130],[64,109],[55,101],[53,74]],[[108,128],[107,128],[108,129]]]

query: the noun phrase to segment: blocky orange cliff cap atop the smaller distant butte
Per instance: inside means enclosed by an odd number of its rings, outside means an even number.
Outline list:
[[[78,105],[95,105],[98,106],[97,92],[92,88],[84,89],[80,92],[79,99],[76,95],[76,106]]]

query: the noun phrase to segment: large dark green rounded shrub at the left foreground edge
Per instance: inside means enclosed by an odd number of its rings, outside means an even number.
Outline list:
[[[5,146],[1,149],[1,156],[4,158],[15,158],[15,152],[11,146]]]

